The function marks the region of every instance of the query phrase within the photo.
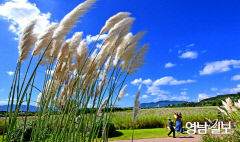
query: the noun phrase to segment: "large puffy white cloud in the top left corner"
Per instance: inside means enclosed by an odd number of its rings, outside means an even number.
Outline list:
[[[51,13],[42,13],[35,3],[28,0],[10,0],[0,5],[0,16],[10,22],[11,32],[20,35],[24,27],[34,19],[38,19],[34,31],[41,33],[50,25]]]

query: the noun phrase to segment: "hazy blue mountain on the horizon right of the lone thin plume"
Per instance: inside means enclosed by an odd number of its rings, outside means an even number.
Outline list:
[[[166,107],[166,106],[172,106],[172,105],[179,105],[185,103],[185,101],[158,101],[158,102],[149,102],[149,103],[141,103],[141,108],[153,108],[153,107]]]

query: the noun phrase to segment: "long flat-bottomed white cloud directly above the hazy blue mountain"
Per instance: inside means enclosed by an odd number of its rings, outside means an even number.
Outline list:
[[[154,86],[160,86],[160,85],[181,85],[181,84],[186,84],[186,83],[193,83],[195,80],[176,80],[172,76],[165,76],[160,79],[157,79],[156,81],[153,82]]]

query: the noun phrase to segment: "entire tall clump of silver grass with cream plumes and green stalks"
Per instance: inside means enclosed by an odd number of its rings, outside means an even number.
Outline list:
[[[94,3],[95,0],[86,0],[79,4],[59,24],[46,27],[48,30],[37,40],[33,40],[36,36],[33,33],[34,22],[23,32],[9,93],[9,115],[6,115],[5,121],[8,129],[3,141],[26,141],[24,132],[28,122],[32,121],[28,117],[29,107],[34,102],[37,103],[37,113],[28,141],[107,141],[113,107],[118,102],[127,76],[143,65],[146,46],[140,46],[142,34],[133,36],[129,33],[134,18],[128,17],[128,12],[110,17],[89,51],[80,44],[85,42],[79,39],[81,32],[65,39],[78,18]],[[100,36],[106,32],[107,38],[101,48],[96,47]],[[21,66],[25,64],[34,43],[35,48],[21,80],[20,74],[24,71]],[[79,53],[77,48],[83,50]],[[38,60],[35,61],[37,55]],[[39,79],[39,68],[45,68],[40,81],[42,89],[36,84],[39,82],[36,81]],[[37,101],[32,101],[32,96],[36,95],[34,89],[40,91]],[[101,106],[106,98],[109,99]],[[18,139],[18,114],[25,103],[27,110]],[[104,111],[98,115],[97,110],[103,107]]]

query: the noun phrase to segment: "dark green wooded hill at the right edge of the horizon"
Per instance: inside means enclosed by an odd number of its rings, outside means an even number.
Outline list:
[[[218,95],[215,97],[203,99],[200,102],[185,102],[185,103],[177,105],[177,107],[220,106],[220,105],[222,105],[222,100],[225,100],[228,97],[231,98],[231,100],[236,101],[236,100],[240,99],[240,93]]]

